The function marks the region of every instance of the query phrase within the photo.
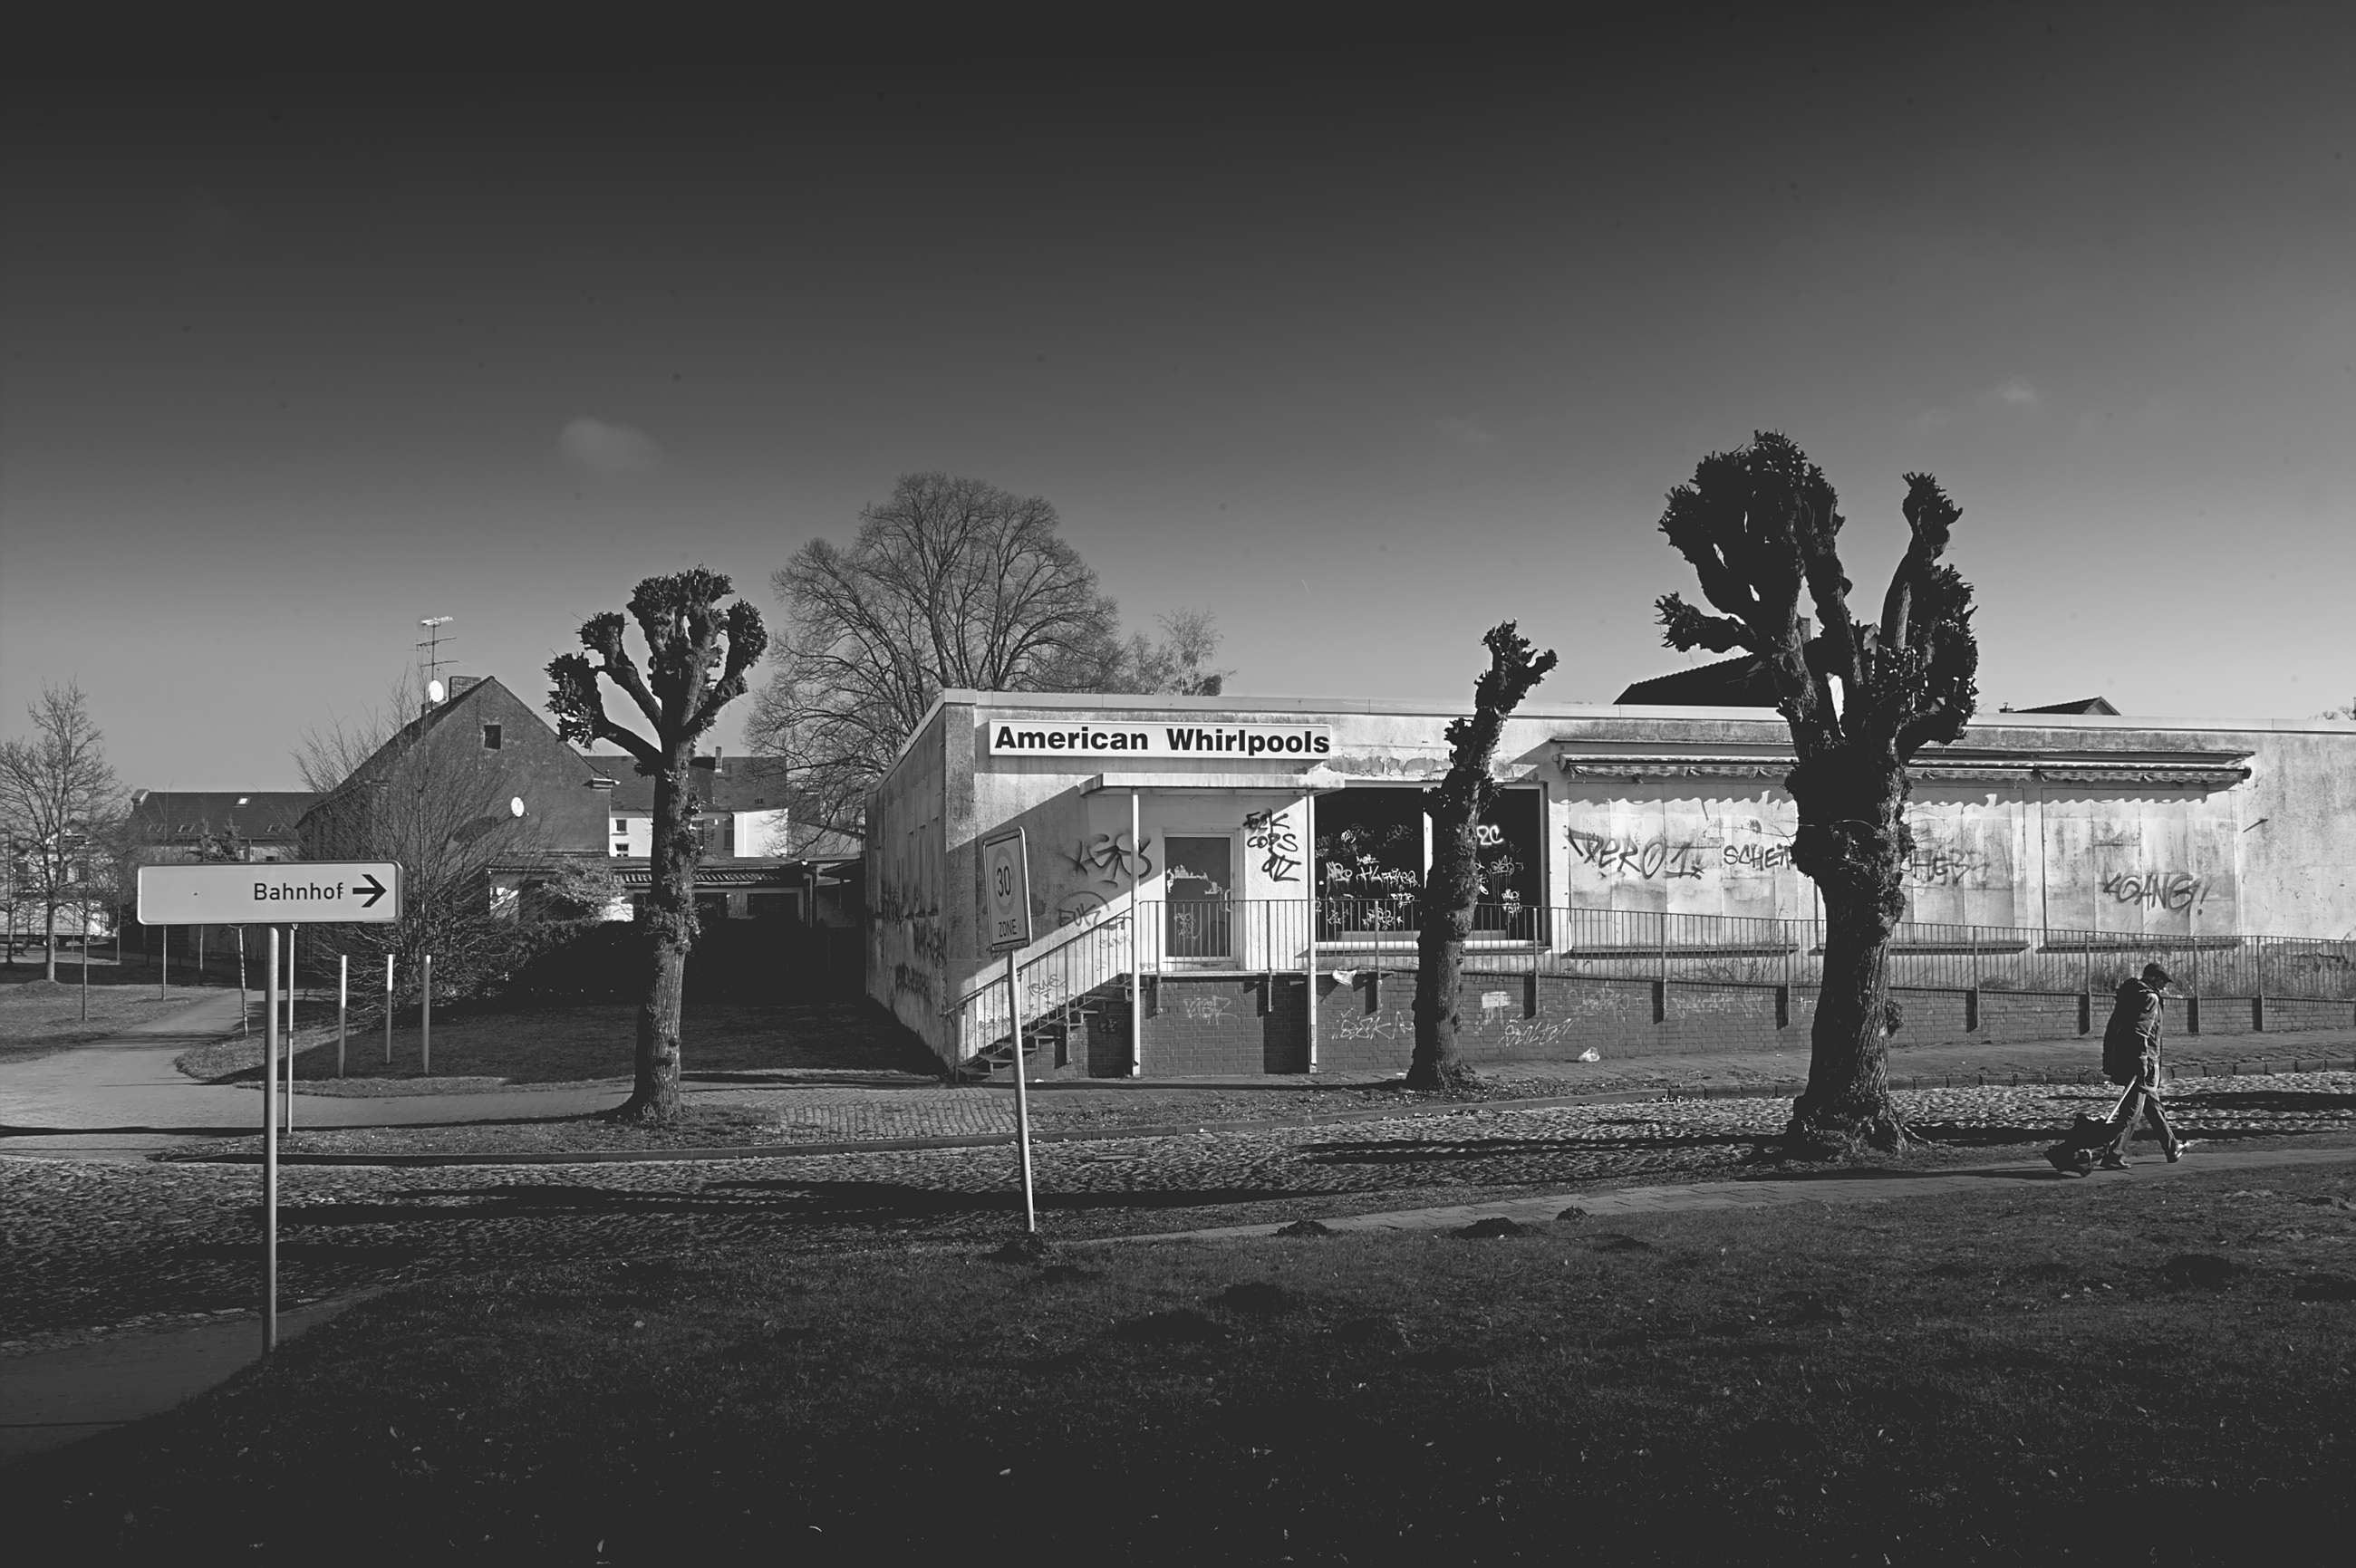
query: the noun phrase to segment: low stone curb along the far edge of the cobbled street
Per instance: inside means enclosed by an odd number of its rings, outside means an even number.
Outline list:
[[[2205,1064],[2193,1064],[2203,1067]],[[2236,1062],[2236,1067],[2243,1067]],[[2250,1076],[2278,1076],[2271,1059],[2259,1062],[2266,1071]],[[2356,1071],[2356,1057],[2349,1059],[2323,1059],[2307,1064],[2307,1057],[2292,1057],[2290,1071]],[[2203,1071],[2203,1078],[2217,1078],[2226,1074]],[[2238,1076],[2238,1074],[2236,1074]],[[1993,1078],[1993,1083],[1991,1083]],[[2182,1071],[2172,1071],[2170,1081],[2182,1078]],[[2052,1074],[1941,1074],[1892,1078],[1890,1088],[1922,1092],[1937,1088],[2069,1088],[2069,1085],[2106,1085],[2109,1081],[2099,1071],[2085,1071],[2076,1076],[2052,1076]],[[1807,1088],[1800,1078],[1783,1078],[1774,1083],[1696,1083],[1685,1088],[1644,1088],[1644,1090],[1600,1090],[1593,1095],[1541,1095],[1529,1099],[1468,1099],[1468,1102],[1440,1102],[1430,1109],[1407,1109],[1407,1107],[1381,1107],[1369,1111],[1333,1111],[1329,1116],[1305,1116],[1305,1118],[1282,1118],[1282,1121],[1171,1121],[1150,1123],[1133,1128],[1070,1128],[1065,1132],[1032,1132],[1032,1144],[1093,1144],[1093,1142],[1121,1142],[1121,1140],[1150,1140],[1150,1137],[1194,1137],[1202,1132],[1260,1132],[1282,1128],[1348,1128],[1369,1121],[1418,1121],[1425,1116],[1456,1116],[1465,1111],[1548,1111],[1581,1104],[1670,1104],[1680,1099],[1791,1099]],[[342,1128],[339,1128],[342,1130]],[[252,1132],[245,1132],[252,1137]],[[697,1163],[697,1161],[782,1161],[801,1156],[836,1156],[836,1154],[914,1154],[926,1149],[1008,1149],[1013,1147],[1013,1132],[980,1132],[980,1135],[945,1135],[945,1137],[869,1137],[869,1140],[839,1140],[822,1144],[735,1144],[719,1149],[518,1149],[509,1154],[299,1154],[280,1151],[280,1165],[384,1165],[384,1168],[434,1168],[434,1165],[662,1165],[662,1163]],[[262,1154],[214,1154],[196,1161],[172,1161],[174,1165],[259,1165]]]

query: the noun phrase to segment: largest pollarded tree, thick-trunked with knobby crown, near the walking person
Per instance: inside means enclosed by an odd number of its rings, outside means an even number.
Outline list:
[[[1795,1151],[1908,1142],[1890,1102],[1890,935],[1906,918],[1913,852],[1906,763],[1963,735],[1979,704],[1979,643],[1972,584],[1939,563],[1963,511],[1927,473],[1906,476],[1899,511],[1913,539],[1878,624],[1849,614],[1838,497],[1786,436],[1765,431],[1741,450],[1703,457],[1661,513],[1661,532],[1720,610],[1663,596],[1663,640],[1755,652],[1798,751],[1783,782],[1800,812],[1791,862],[1824,895],[1824,984],[1807,1092],[1786,1130]],[[1802,636],[1802,593],[1821,626],[1814,638]]]

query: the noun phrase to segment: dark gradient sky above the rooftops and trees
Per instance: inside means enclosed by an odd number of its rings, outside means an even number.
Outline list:
[[[1986,711],[2356,699],[2356,7],[664,14],[12,49],[0,732],[294,789],[424,617],[537,699],[926,469],[1230,692],[1470,702],[1510,617],[1609,702],[1762,428],[1868,607],[1958,499]]]

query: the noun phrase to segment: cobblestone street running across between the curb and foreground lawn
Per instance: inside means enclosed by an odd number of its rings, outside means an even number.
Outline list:
[[[2102,1114],[2116,1090],[1901,1092],[1951,1158],[2019,1154]],[[2212,1147],[2356,1130],[2356,1074],[2215,1078],[2170,1109]],[[1456,1107],[1343,1128],[1044,1144],[1048,1234],[1176,1231],[1366,1212],[1472,1196],[1739,1175],[1781,1128],[1774,1099],[1553,1109]],[[2193,1154],[2198,1158],[2198,1151]],[[1004,1236],[1011,1156],[907,1149],[716,1163],[507,1168],[287,1168],[283,1300],[580,1257],[719,1245],[839,1250]],[[252,1165],[0,1165],[0,1354],[254,1309]]]

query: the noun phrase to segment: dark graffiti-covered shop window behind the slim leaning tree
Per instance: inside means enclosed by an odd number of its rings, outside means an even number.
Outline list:
[[[1543,796],[1498,791],[1480,822],[1475,935],[1529,942],[1538,935]],[[1317,798],[1317,899],[1322,935],[1414,932],[1430,871],[1421,789],[1343,789]]]

